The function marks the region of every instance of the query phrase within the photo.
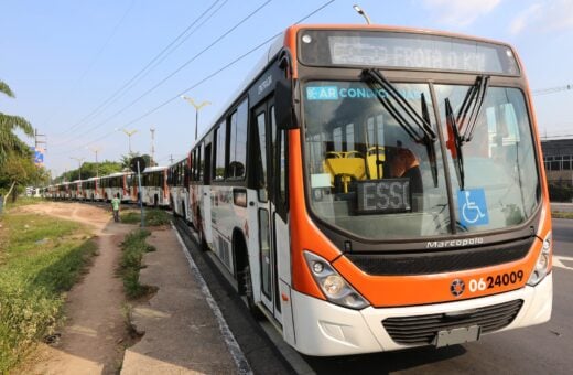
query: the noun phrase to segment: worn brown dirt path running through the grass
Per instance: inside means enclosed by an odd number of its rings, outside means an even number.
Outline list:
[[[116,224],[100,207],[79,203],[46,203],[21,207],[77,221],[94,227],[99,256],[84,279],[68,293],[65,326],[57,343],[40,344],[22,374],[116,374],[123,357],[126,323],[122,315],[123,289],[116,277],[119,244],[132,231],[131,225]]]

